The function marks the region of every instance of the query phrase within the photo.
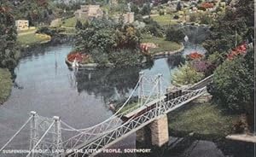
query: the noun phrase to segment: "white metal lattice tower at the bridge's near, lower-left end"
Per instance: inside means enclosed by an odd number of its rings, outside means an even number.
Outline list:
[[[61,121],[60,118],[45,118],[32,111],[30,128],[30,153],[28,157],[38,157],[41,155],[52,157],[63,157],[61,146]],[[39,152],[37,150],[43,150]],[[47,150],[47,151],[45,151]]]

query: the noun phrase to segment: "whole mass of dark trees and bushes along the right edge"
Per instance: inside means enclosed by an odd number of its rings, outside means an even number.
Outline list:
[[[253,110],[253,51],[238,53],[237,44],[253,42],[253,1],[239,0],[227,8],[212,26],[205,42],[207,60],[216,65],[211,93],[224,108],[238,112]],[[232,56],[231,56],[231,55]]]

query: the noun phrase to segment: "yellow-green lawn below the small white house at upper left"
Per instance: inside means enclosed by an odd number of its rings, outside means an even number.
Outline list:
[[[50,40],[50,36],[45,34],[25,34],[18,36],[18,42],[20,44],[31,45],[39,44]]]

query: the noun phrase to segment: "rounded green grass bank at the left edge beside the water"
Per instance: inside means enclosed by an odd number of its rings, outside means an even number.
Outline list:
[[[0,104],[5,102],[12,90],[13,81],[8,69],[0,68]]]

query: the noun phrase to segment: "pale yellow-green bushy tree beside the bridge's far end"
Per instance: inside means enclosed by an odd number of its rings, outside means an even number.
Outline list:
[[[195,68],[185,63],[180,67],[177,67],[177,71],[172,74],[172,84],[175,85],[187,85],[195,84],[204,78],[204,73],[196,72]]]

